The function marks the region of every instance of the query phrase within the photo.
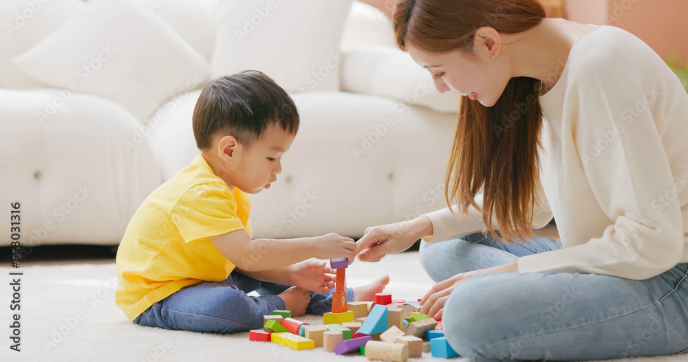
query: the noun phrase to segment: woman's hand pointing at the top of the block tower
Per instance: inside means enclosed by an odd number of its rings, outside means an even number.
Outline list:
[[[405,251],[416,240],[429,235],[432,235],[432,223],[427,216],[369,227],[365,229],[363,238],[356,242],[358,260],[379,262],[386,253]]]

